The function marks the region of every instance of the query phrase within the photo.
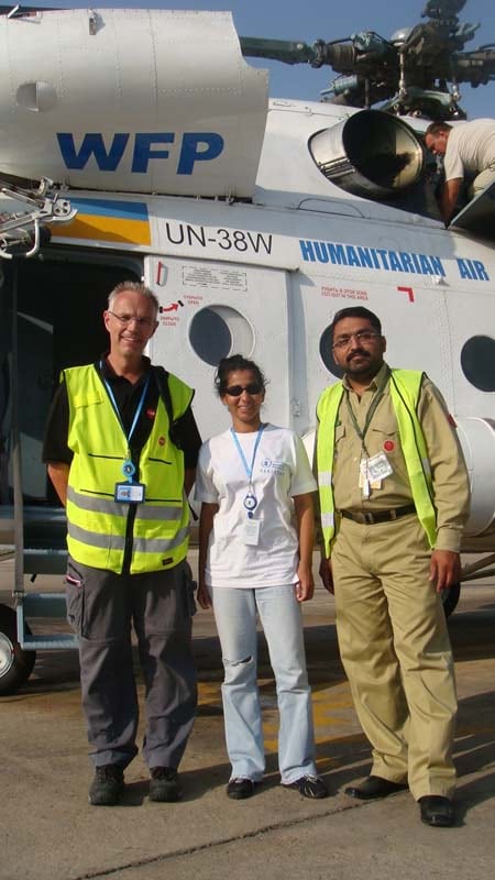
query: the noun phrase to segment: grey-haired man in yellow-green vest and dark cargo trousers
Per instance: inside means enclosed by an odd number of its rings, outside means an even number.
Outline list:
[[[193,389],[143,354],[157,312],[142,284],[112,290],[103,314],[110,350],[63,371],[43,451],[67,512],[67,613],[79,637],[95,805],[119,801],[138,751],[131,625],[153,801],[180,796],[177,767],[196,713],[187,495],[201,441]]]

